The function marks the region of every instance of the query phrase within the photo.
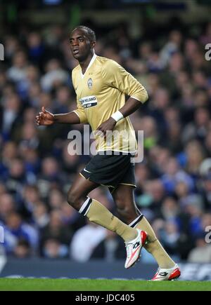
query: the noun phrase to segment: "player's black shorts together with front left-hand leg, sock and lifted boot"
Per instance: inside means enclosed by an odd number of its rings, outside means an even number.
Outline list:
[[[82,215],[87,215],[91,222],[115,231],[124,239],[127,250],[124,266],[129,268],[139,259],[141,248],[146,242],[146,232],[127,226],[101,203],[87,196],[89,191],[99,184],[114,187],[116,181],[124,175],[124,171],[127,171],[126,165],[130,165],[128,155],[97,154],[91,158],[75,183],[72,184],[68,191],[68,203]]]

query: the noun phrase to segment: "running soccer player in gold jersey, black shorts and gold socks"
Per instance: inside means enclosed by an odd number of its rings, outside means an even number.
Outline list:
[[[126,269],[136,263],[141,248],[145,247],[159,265],[153,280],[178,278],[180,271],[177,264],[162,248],[151,225],[134,202],[134,163],[131,157],[137,149],[137,143],[129,114],[148,100],[148,94],[141,83],[117,62],[97,56],[95,44],[96,35],[92,29],[79,26],[72,31],[70,49],[79,62],[72,70],[77,109],[68,114],[51,114],[42,107],[36,116],[37,125],[90,124],[98,140],[97,154],[77,175],[68,191],[68,203],[91,222],[115,231],[124,239]],[[125,95],[129,96],[127,102]],[[112,136],[108,140],[106,132],[109,130],[120,136]],[[117,212],[124,222],[88,196],[99,185],[110,189]]]

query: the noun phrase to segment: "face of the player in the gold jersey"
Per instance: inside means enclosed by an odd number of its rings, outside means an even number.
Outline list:
[[[84,29],[75,29],[70,36],[72,56],[79,62],[87,59],[94,48],[94,44],[94,42],[89,41],[87,31]]]

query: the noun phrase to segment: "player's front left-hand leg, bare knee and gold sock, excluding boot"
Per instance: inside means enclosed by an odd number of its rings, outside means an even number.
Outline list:
[[[68,203],[79,213],[87,216],[91,222],[115,231],[124,241],[133,240],[137,236],[137,230],[127,226],[115,217],[104,205],[87,196],[90,191],[98,187],[98,184],[78,175],[68,191]]]

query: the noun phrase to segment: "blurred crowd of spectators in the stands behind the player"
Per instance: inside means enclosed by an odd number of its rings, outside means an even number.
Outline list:
[[[153,33],[153,34],[152,34]],[[40,126],[41,107],[54,114],[76,108],[70,29],[60,26],[1,37],[0,225],[13,257],[124,259],[114,233],[87,222],[66,201],[90,156],[68,152],[68,132],[83,126]],[[151,28],[132,39],[125,25],[98,27],[96,54],[120,63],[146,87],[149,100],[131,116],[144,131],[144,159],[136,163],[136,204],[162,245],[178,260],[211,262],[211,65],[205,45],[211,23],[185,29]],[[90,196],[115,212],[107,189]],[[87,242],[89,240],[89,243]],[[153,262],[147,252],[143,262]]]

